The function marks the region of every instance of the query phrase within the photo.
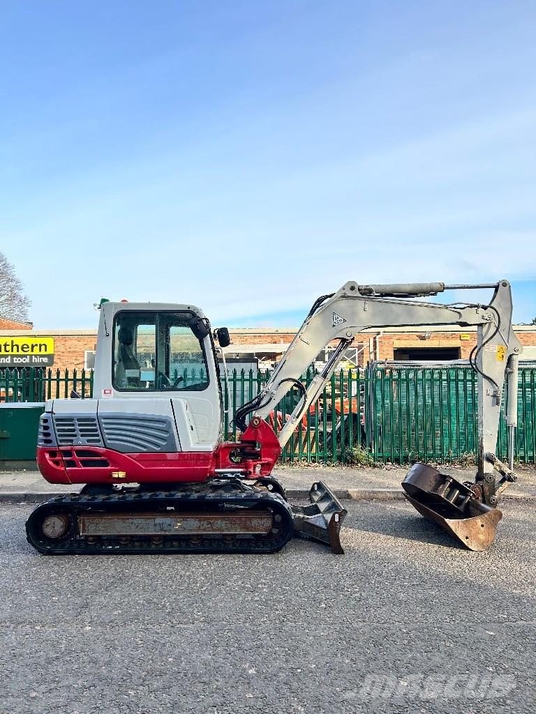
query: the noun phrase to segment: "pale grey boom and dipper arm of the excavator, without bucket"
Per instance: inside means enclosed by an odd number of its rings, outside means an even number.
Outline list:
[[[493,291],[489,303],[444,305],[420,299],[448,290],[481,290],[482,288],[490,288]],[[495,506],[497,493],[500,493],[507,483],[515,480],[511,471],[514,441],[512,436],[517,425],[517,365],[522,351],[512,331],[512,294],[510,283],[507,281],[486,285],[451,286],[445,283],[399,285],[359,285],[353,281],[345,283],[336,293],[322,296],[314,303],[264,389],[237,411],[237,425],[244,429],[249,414],[252,414],[252,418],[258,423],[274,409],[289,388],[295,385],[300,389],[302,399],[279,433],[279,444],[284,446],[309,406],[319,398],[324,385],[342,358],[344,350],[357,334],[370,328],[423,325],[477,327],[477,345],[470,356],[470,363],[478,375],[478,468],[475,484],[467,487],[470,495],[467,496],[465,491],[463,493],[467,498],[477,499],[487,507]],[[339,344],[332,357],[322,372],[317,374],[305,388],[299,377],[322,348],[337,340]],[[509,393],[508,466],[500,463],[495,456],[505,378]],[[496,472],[499,478],[496,477]],[[430,481],[430,474],[427,476]],[[455,481],[454,491],[457,489],[457,483]],[[444,487],[445,480],[440,483],[440,486],[435,485],[435,488],[445,491]],[[460,500],[461,496],[451,494],[450,498],[456,501]]]

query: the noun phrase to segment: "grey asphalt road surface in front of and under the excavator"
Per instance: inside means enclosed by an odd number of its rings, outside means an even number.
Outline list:
[[[348,507],[342,556],[47,558],[0,505],[0,713],[535,712],[534,505],[487,553]]]

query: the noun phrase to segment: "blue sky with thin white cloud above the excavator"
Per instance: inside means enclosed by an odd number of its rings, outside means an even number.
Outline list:
[[[536,316],[532,1],[1,4],[0,249],[38,328],[101,296],[297,325],[345,281]]]

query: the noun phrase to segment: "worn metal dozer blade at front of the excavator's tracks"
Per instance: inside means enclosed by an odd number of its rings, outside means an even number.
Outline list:
[[[348,511],[342,508],[332,491],[323,481],[317,481],[309,491],[310,506],[292,506],[294,535],[326,543],[333,553],[342,555],[339,538],[342,521]]]

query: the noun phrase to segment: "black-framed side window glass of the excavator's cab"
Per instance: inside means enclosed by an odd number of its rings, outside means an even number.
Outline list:
[[[114,321],[114,387],[121,391],[202,390],[209,385],[202,342],[189,312],[123,311]]]

